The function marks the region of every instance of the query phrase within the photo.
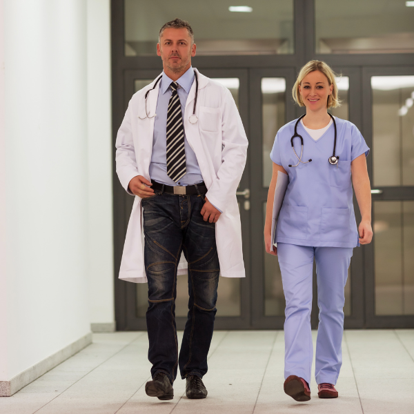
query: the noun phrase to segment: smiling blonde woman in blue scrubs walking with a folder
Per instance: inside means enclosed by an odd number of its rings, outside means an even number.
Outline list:
[[[328,108],[339,106],[331,68],[322,61],[306,63],[293,87],[293,98],[299,106],[306,106],[306,115],[277,132],[270,154],[273,176],[264,239],[266,252],[278,256],[286,298],[284,391],[297,401],[308,401],[313,359],[313,260],[319,306],[315,379],[319,397],[333,398],[338,396],[335,384],[342,365],[348,267],[353,248],[370,243],[373,236],[371,188],[366,169],[369,148],[364,138],[351,122],[328,114]],[[303,146],[296,136],[292,148],[295,126]],[[270,228],[278,171],[288,175],[289,184],[272,240]],[[353,188],[362,216],[358,228]],[[271,251],[273,243],[277,247]]]

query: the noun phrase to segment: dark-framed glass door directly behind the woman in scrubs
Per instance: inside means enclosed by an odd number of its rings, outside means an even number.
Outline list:
[[[350,85],[353,99],[359,92],[357,74],[344,68],[342,77],[337,78],[339,99],[342,106],[332,110],[336,117],[355,118],[350,112]],[[355,76],[354,76],[355,75]],[[356,81],[354,80],[356,77]],[[252,182],[252,319],[254,328],[283,328],[284,292],[277,257],[266,254],[264,248],[264,221],[268,186],[272,177],[270,151],[277,130],[286,122],[304,113],[303,108],[294,105],[291,90],[295,82],[295,70],[291,69],[250,69],[250,136],[255,143],[250,148],[250,171]],[[355,93],[356,92],[356,93]],[[357,99],[355,99],[356,101]],[[352,120],[352,119],[351,119]],[[355,122],[355,119],[354,119]],[[356,122],[355,122],[356,123]],[[355,211],[358,211],[355,206]],[[311,322],[317,328],[316,266],[314,266],[313,311]],[[345,325],[348,328],[362,326],[362,252],[354,250],[345,288]]]

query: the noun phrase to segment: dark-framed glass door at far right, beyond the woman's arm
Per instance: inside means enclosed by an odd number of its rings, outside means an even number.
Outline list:
[[[366,323],[372,327],[414,326],[413,73],[412,67],[364,70],[374,231],[366,250]]]

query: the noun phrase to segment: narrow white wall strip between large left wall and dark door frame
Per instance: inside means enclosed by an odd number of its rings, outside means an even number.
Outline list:
[[[110,0],[88,0],[88,201],[92,324],[113,324]]]

